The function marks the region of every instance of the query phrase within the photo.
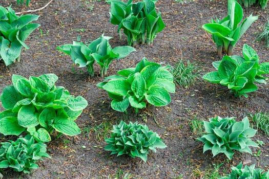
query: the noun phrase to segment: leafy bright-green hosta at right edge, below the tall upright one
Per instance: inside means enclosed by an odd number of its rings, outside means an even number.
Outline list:
[[[254,92],[258,87],[254,84],[266,84],[269,74],[269,62],[260,63],[258,54],[247,44],[242,49],[243,57],[224,56],[221,61],[213,62],[217,71],[203,76],[203,79],[212,83],[219,83],[231,89],[236,97],[248,97],[246,93]]]

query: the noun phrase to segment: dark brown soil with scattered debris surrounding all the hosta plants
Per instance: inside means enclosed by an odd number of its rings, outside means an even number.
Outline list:
[[[2,6],[9,5],[8,0],[2,0]],[[15,2],[15,1],[14,1]],[[31,0],[31,5],[25,9],[38,9],[49,0]],[[157,34],[153,46],[137,45],[135,53],[125,59],[112,62],[108,75],[118,70],[135,66],[143,57],[151,61],[175,65],[181,59],[190,60],[201,66],[202,73],[213,70],[212,62],[221,60],[217,56],[216,47],[211,35],[200,27],[211,18],[222,18],[227,13],[226,1],[194,0],[180,4],[174,0],[159,0],[158,9],[166,25],[164,31]],[[13,5],[16,11],[22,8]],[[77,68],[69,56],[56,50],[57,46],[72,43],[77,36],[87,42],[98,38],[102,33],[113,36],[110,41],[113,47],[127,44],[126,37],[119,39],[117,27],[109,21],[110,5],[98,0],[55,0],[42,11],[37,23],[40,28],[31,34],[26,43],[29,50],[22,51],[20,62],[8,67],[0,61],[0,93],[11,84],[12,74],[39,76],[55,73],[59,80],[57,85],[65,86],[73,95],[81,95],[87,99],[89,106],[76,120],[81,135],[76,137],[61,136],[48,143],[52,159],[39,162],[39,168],[31,174],[16,173],[4,169],[4,178],[123,178],[130,173],[130,178],[200,178],[205,171],[213,168],[213,164],[224,163],[220,172],[229,172],[232,165],[241,161],[256,164],[256,167],[267,169],[269,166],[269,138],[259,131],[253,138],[264,145],[260,148],[260,156],[236,152],[231,161],[225,155],[212,158],[211,152],[202,153],[202,144],[196,142],[199,137],[191,131],[190,121],[193,119],[208,120],[215,116],[234,116],[242,120],[244,116],[269,109],[269,86],[259,85],[258,91],[249,98],[236,99],[230,95],[226,87],[198,80],[194,86],[187,89],[177,88],[172,94],[172,102],[165,107],[149,106],[136,116],[130,109],[128,115],[111,109],[111,99],[102,89],[96,87],[103,78],[90,78],[86,68]],[[259,15],[259,19],[243,35],[237,43],[234,54],[241,55],[244,43],[252,46],[262,62],[268,61],[268,49],[262,43],[255,42],[255,33],[262,31],[268,17],[268,8],[261,10],[259,6],[244,9],[245,16]],[[40,33],[42,30],[43,34]],[[98,74],[98,67],[95,66]],[[3,107],[1,105],[1,110]],[[106,143],[101,135],[98,139],[93,128],[106,122],[118,124],[120,120],[145,123],[164,139],[165,149],[151,152],[147,163],[139,158],[110,155],[103,148]],[[156,119],[157,124],[154,119]],[[88,129],[88,132],[87,132]],[[111,127],[110,127],[111,129]],[[99,129],[101,132],[101,130]],[[109,135],[109,133],[108,133]],[[9,139],[0,136],[0,141]],[[82,147],[85,146],[85,147]],[[252,148],[257,152],[258,148]]]

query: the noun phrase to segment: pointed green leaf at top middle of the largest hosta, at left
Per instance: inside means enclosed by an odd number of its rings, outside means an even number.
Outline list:
[[[32,86],[32,92],[41,94],[50,92],[50,87],[43,79],[30,76],[29,81]]]

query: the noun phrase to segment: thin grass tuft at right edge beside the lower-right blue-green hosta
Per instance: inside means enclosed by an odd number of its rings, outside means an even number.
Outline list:
[[[256,113],[254,116],[251,115],[251,117],[257,130],[260,129],[269,136],[269,114],[267,112]]]

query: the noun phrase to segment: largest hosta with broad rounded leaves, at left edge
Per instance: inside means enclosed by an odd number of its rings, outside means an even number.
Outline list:
[[[75,136],[80,129],[74,122],[88,103],[81,96],[74,97],[63,86],[56,86],[55,74],[26,79],[12,75],[13,85],[6,86],[1,95],[0,133],[19,136],[30,133],[35,140],[51,141],[50,134]]]

